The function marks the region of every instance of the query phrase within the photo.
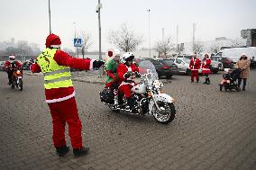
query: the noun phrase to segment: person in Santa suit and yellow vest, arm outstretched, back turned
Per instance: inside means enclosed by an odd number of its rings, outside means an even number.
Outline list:
[[[59,36],[50,34],[46,49],[32,64],[32,73],[43,73],[46,103],[50,107],[53,125],[53,143],[59,157],[69,152],[66,145],[65,125],[69,125],[69,137],[75,157],[87,154],[89,148],[82,145],[82,124],[78,116],[75,91],[71,80],[70,67],[89,70],[101,67],[104,62],[92,59],[72,58],[60,50]]]

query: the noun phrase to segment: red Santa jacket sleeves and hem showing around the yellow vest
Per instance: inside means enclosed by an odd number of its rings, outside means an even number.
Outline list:
[[[82,59],[82,58],[72,58],[66,52],[62,50],[57,50],[54,55],[54,60],[60,66],[72,67],[82,70],[89,70],[93,67],[94,60],[92,59]],[[32,73],[41,72],[41,67],[38,64],[32,64],[31,66]],[[63,101],[64,99],[68,100],[69,96],[74,96],[74,87],[61,87],[61,88],[52,88],[45,89],[46,102],[47,101]],[[63,99],[63,100],[61,100]],[[51,103],[51,102],[47,102]]]

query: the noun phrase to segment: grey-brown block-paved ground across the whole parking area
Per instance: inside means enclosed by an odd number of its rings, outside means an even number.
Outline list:
[[[76,75],[77,74],[77,75]],[[151,116],[114,113],[100,103],[104,77],[73,73],[85,157],[57,157],[41,74],[25,73],[23,91],[0,72],[0,169],[256,169],[256,70],[246,91],[220,92],[189,76],[162,78],[177,103],[177,116],[162,125]],[[68,126],[66,137],[69,142]]]

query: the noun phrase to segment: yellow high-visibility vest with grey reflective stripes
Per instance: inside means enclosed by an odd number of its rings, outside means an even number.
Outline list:
[[[53,59],[57,49],[44,49],[36,58],[44,76],[44,88],[60,88],[73,86],[69,67],[59,66]]]

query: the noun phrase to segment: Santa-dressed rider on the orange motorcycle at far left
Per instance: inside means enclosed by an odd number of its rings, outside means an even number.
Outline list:
[[[9,83],[11,85],[13,82],[13,74],[15,69],[21,69],[23,67],[22,63],[18,60],[15,60],[15,56],[9,56],[9,60],[5,61],[4,69],[7,72]]]

